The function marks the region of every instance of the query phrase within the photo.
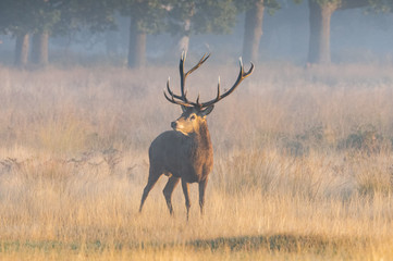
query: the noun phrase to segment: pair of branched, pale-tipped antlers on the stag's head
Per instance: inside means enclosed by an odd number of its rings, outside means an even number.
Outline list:
[[[185,57],[186,57],[186,53],[183,51],[182,58],[181,58],[180,64],[179,64],[182,95],[177,96],[177,95],[173,94],[173,91],[171,90],[171,88],[169,86],[170,78],[168,78],[168,82],[167,82],[167,90],[168,90],[168,94],[171,96],[171,98],[169,98],[167,96],[167,92],[163,91],[163,95],[165,96],[167,100],[169,100],[170,102],[172,102],[174,104],[179,104],[179,105],[183,105],[183,107],[197,107],[199,109],[202,109],[202,108],[214,104],[219,100],[221,100],[221,99],[225,98],[226,96],[231,95],[236,89],[236,87],[242,83],[242,80],[245,79],[246,77],[248,77],[254,71],[254,64],[251,63],[251,67],[248,70],[248,72],[244,72],[242,58],[240,58],[241,71],[238,73],[238,76],[237,76],[237,79],[236,79],[235,84],[231,87],[231,89],[225,91],[223,95],[220,95],[220,77],[219,77],[216,99],[207,101],[207,102],[199,103],[199,95],[198,95],[198,98],[196,99],[196,102],[192,102],[192,101],[188,101],[187,97],[186,97],[187,90],[184,89],[185,79],[191,73],[193,73],[195,70],[197,70],[210,57],[210,54],[206,55],[206,53],[205,53],[204,57],[199,60],[199,62],[193,69],[191,69],[187,73],[184,73]]]

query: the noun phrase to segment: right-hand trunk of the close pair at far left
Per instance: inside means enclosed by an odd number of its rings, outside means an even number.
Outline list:
[[[38,65],[48,64],[48,33],[36,33],[33,35],[32,62]]]

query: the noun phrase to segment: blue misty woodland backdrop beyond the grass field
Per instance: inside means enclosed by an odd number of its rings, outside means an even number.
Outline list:
[[[0,64],[26,66],[48,63],[63,65],[102,63],[139,67],[175,63],[182,49],[188,49],[188,53],[196,57],[211,52],[218,58],[216,61],[223,63],[232,62],[241,55],[244,60],[254,62],[290,62],[297,65],[330,62],[389,64],[393,62],[393,14],[390,1],[212,1],[222,7],[225,5],[224,8],[209,2],[195,0],[174,2],[2,0],[0,3]],[[344,8],[351,2],[355,4]],[[147,5],[144,7],[144,4]],[[247,26],[245,21],[247,16],[253,15],[250,11],[258,4],[263,13],[259,22],[262,34],[257,42],[257,53],[247,54],[244,51],[245,29],[250,26]],[[317,4],[319,10],[316,10],[312,4]],[[335,4],[335,8],[331,12],[330,28],[328,28],[330,60],[312,59],[310,49],[314,44],[310,42],[310,37],[312,34],[323,34],[321,32],[324,30],[324,18],[321,17],[322,22],[320,22],[318,18],[312,18],[310,14],[321,11],[323,13],[323,8],[332,4]],[[175,16],[176,13],[173,13],[175,5],[179,5],[181,13],[189,10],[189,7],[196,10],[191,15],[192,20]],[[71,9],[74,10],[70,12]],[[161,13],[152,14],[152,18],[149,18],[151,12],[157,10]],[[210,14],[211,10],[214,12]],[[198,18],[193,21],[198,12],[204,13],[205,16],[201,18],[205,22],[200,22],[200,17],[199,21]],[[164,26],[158,28],[153,23],[139,26],[139,22],[135,18],[137,15]],[[214,20],[217,21],[206,22]],[[322,23],[322,26],[317,29],[320,32],[312,33],[310,25],[319,23]],[[133,24],[140,27],[137,30],[144,30],[146,34],[146,50],[132,50],[132,41],[137,38],[131,35]],[[187,26],[192,27],[188,32]],[[193,26],[200,26],[202,29],[195,29]],[[258,27],[256,30],[259,30]],[[47,47],[44,47],[47,48],[48,54],[47,58],[44,57],[44,61],[39,61],[39,58],[34,57],[37,52],[41,52],[42,47],[38,49],[39,51],[35,49],[37,41],[35,37],[44,34],[48,35]],[[29,36],[25,61],[21,60],[21,54],[17,54],[17,40],[21,35]],[[187,46],[184,46],[184,42],[181,44],[185,35],[189,37]],[[255,41],[256,38],[258,36],[254,36],[253,40]],[[316,47],[318,50],[323,48],[323,46]],[[131,62],[131,59],[145,59],[132,58],[132,52],[135,52],[136,57],[144,55],[146,60]]]

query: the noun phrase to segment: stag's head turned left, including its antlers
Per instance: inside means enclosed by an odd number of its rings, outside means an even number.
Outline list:
[[[240,59],[241,71],[238,73],[237,79],[235,84],[224,94],[221,94],[220,90],[220,77],[217,86],[217,96],[214,99],[206,102],[199,102],[199,95],[195,102],[189,101],[187,99],[187,90],[185,89],[185,80],[189,74],[192,74],[195,70],[197,70],[204,62],[210,57],[210,54],[204,54],[204,57],[199,60],[199,62],[192,67],[187,73],[184,73],[184,61],[186,59],[186,53],[183,51],[179,70],[180,70],[180,78],[181,78],[181,95],[175,95],[170,88],[170,78],[167,82],[167,95],[165,90],[163,91],[164,97],[168,101],[179,104],[182,107],[183,113],[182,115],[174,122],[171,123],[171,127],[174,130],[181,132],[184,135],[188,135],[191,133],[198,132],[201,123],[205,123],[206,116],[214,109],[214,103],[231,95],[237,86],[242,83],[243,79],[248,77],[254,71],[254,64],[251,63],[251,67],[248,72],[244,72],[242,58]]]

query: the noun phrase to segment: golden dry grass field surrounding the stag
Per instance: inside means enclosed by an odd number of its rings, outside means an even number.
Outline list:
[[[188,96],[237,70],[206,64]],[[181,188],[169,215],[167,177],[137,211],[177,74],[0,67],[1,260],[393,259],[392,66],[258,66],[208,117],[214,169],[189,222]]]

